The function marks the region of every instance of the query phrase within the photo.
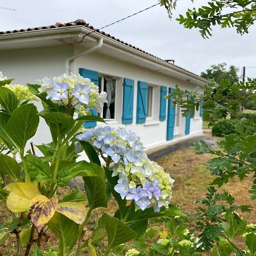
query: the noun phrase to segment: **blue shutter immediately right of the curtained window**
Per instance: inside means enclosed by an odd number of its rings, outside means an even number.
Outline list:
[[[122,123],[133,123],[133,95],[134,95],[134,80],[123,79],[123,115]]]

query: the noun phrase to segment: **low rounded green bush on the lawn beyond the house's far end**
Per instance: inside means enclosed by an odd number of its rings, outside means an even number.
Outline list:
[[[243,122],[239,119],[224,119],[220,122],[214,123],[212,126],[212,135],[224,137],[232,133],[237,133],[237,128],[243,126]]]

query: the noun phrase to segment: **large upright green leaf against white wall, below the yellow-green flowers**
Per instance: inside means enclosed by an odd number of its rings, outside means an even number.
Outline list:
[[[7,123],[7,131],[15,144],[23,150],[28,139],[35,135],[38,124],[38,110],[35,105],[26,104],[14,110]]]

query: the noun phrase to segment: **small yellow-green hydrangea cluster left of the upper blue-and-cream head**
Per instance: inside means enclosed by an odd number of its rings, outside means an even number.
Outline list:
[[[5,87],[11,90],[20,102],[38,100],[38,97],[32,94],[27,86],[21,84],[6,84]]]

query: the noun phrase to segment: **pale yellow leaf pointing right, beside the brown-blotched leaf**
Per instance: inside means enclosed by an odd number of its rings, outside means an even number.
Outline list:
[[[62,213],[63,215],[80,225],[84,221],[86,213],[88,212],[83,203],[76,202],[59,203],[57,205],[56,211]]]

